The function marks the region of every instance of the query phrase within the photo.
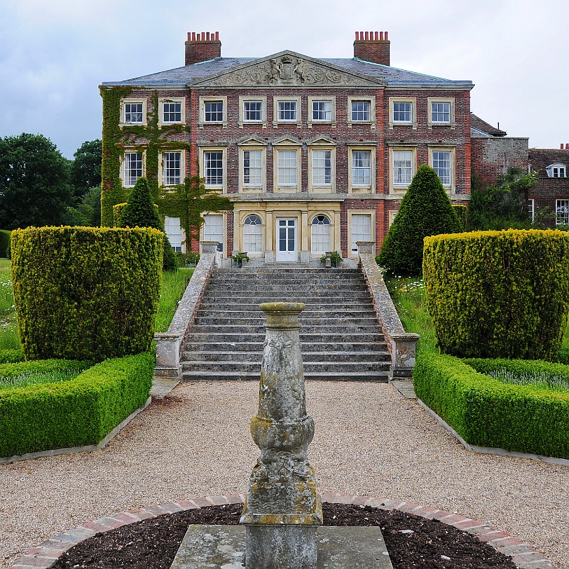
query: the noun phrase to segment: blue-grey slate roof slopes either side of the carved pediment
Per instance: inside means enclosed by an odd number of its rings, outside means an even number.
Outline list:
[[[272,57],[272,56],[269,56]],[[184,67],[177,67],[176,69],[169,69],[167,71],[160,71],[142,77],[135,77],[126,79],[125,81],[105,81],[103,86],[114,85],[133,85],[133,86],[185,86],[193,81],[198,81],[210,76],[219,75],[226,71],[238,67],[240,65],[266,60],[267,57],[216,57],[214,60],[209,60],[191,65],[184,65]],[[452,81],[451,79],[443,79],[440,77],[433,77],[413,71],[405,71],[404,69],[397,69],[397,67],[389,67],[378,63],[366,62],[359,60],[356,57],[351,59],[324,59],[310,58],[315,61],[321,61],[327,64],[340,67],[348,73],[351,71],[364,76],[369,76],[374,79],[381,79],[388,83],[388,85],[426,85],[426,86],[448,86],[456,87],[463,86],[470,89],[474,87],[472,81]]]

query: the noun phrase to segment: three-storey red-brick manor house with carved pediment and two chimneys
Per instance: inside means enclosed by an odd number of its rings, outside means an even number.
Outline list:
[[[217,32],[191,32],[183,67],[103,83],[103,224],[138,177],[158,196],[199,175],[235,205],[204,214],[222,256],[308,263],[379,249],[420,164],[467,205],[473,83],[392,67],[388,32],[356,32],[353,48],[221,57]],[[185,250],[180,214],[158,207]]]

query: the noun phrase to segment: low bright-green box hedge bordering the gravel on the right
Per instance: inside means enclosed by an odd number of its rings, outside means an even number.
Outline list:
[[[478,369],[505,364],[472,360]],[[535,362],[527,362],[528,366]],[[540,362],[556,371],[561,364]],[[563,367],[563,366],[561,366]],[[566,372],[565,372],[566,373]],[[422,354],[413,371],[417,396],[468,444],[569,458],[569,393],[533,385],[510,385],[479,373],[457,357]]]

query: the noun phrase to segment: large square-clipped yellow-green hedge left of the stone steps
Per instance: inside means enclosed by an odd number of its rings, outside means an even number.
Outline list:
[[[162,279],[163,233],[41,227],[12,232],[12,280],[26,359],[146,352]]]

